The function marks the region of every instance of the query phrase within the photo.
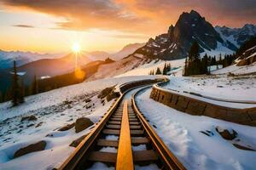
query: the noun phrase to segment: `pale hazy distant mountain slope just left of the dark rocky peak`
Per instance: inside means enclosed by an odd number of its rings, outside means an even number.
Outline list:
[[[119,52],[111,54],[111,59],[119,60],[123,59],[129,54],[133,54],[138,48],[142,48],[145,43],[130,43],[122,48]]]

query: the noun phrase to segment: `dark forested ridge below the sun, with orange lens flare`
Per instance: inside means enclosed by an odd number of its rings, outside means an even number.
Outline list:
[[[84,82],[86,78],[90,77],[98,70],[100,65],[107,63],[110,63],[110,61],[107,59],[105,61],[93,61],[84,66],[81,70],[79,69],[78,71],[45,79],[38,79],[38,77],[35,75],[32,83],[29,86],[25,86],[22,77],[20,77],[17,73],[14,61],[12,85],[6,90],[5,94],[1,93],[0,91],[0,103],[16,99],[17,102],[15,105],[19,105],[24,102],[24,97],[26,96],[40,94],[56,88],[62,88]]]

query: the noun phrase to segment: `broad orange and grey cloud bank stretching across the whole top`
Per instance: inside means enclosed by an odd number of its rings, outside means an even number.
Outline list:
[[[213,25],[256,23],[254,0],[2,0],[8,8],[26,8],[64,18],[58,29],[117,30],[154,35],[175,24],[184,11],[197,10]],[[123,36],[120,36],[123,37]]]

